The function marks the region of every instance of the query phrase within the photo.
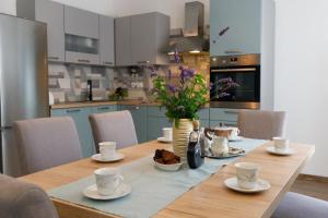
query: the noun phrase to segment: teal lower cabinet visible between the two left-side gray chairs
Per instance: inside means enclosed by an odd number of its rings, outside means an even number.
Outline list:
[[[92,113],[92,108],[70,108],[70,109],[52,109],[51,117],[71,117],[79,133],[83,157],[93,155],[93,137],[87,117]]]

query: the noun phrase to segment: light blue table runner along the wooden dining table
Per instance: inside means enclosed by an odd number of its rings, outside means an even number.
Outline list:
[[[247,153],[265,143],[266,141],[245,138],[242,142],[231,143],[231,146],[244,148]],[[206,164],[197,170],[185,167],[176,172],[166,172],[154,168],[152,157],[148,156],[121,166],[125,182],[132,187],[132,192],[126,197],[108,202],[93,201],[84,197],[82,191],[95,183],[93,174],[54,189],[48,194],[58,199],[116,216],[130,218],[151,217],[190,187],[208,179],[222,166],[234,160],[235,158],[221,160],[206,159]]]

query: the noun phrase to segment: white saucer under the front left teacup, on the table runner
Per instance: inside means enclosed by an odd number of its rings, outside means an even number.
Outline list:
[[[106,201],[106,199],[116,199],[119,197],[124,197],[124,196],[128,195],[130,192],[131,192],[131,186],[122,183],[117,187],[117,190],[115,191],[114,194],[107,195],[107,196],[99,195],[98,191],[97,191],[97,185],[93,184],[93,185],[86,187],[85,190],[83,190],[83,195],[89,198],[92,198],[92,199]]]

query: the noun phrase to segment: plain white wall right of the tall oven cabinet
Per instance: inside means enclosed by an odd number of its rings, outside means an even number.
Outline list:
[[[316,145],[305,173],[328,177],[328,1],[277,0],[276,109],[286,134]]]

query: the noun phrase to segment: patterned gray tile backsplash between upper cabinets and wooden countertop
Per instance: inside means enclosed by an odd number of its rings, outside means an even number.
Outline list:
[[[178,72],[179,64],[161,66],[157,73],[165,75],[171,69]],[[195,69],[209,80],[208,56],[184,56],[184,64]],[[49,64],[49,90],[55,102],[71,102],[86,100],[86,81],[93,82],[93,97],[95,100],[106,100],[117,87],[128,88],[128,99],[144,99],[150,97],[152,78],[150,70],[144,68],[102,68],[78,64]]]

